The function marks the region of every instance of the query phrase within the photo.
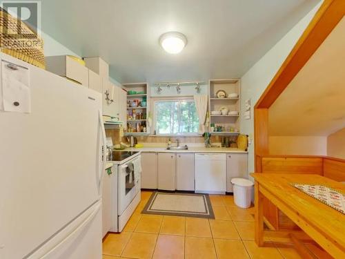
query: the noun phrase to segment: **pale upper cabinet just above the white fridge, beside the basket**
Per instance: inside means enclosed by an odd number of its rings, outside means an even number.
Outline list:
[[[88,68],[70,56],[46,57],[46,70],[88,87]]]

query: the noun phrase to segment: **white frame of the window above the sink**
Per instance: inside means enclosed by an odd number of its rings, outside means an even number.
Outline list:
[[[156,111],[155,111],[155,102],[181,102],[181,101],[194,101],[194,98],[193,96],[191,97],[155,97],[155,98],[151,98],[150,100],[150,106],[152,107],[151,108],[151,114],[152,114],[152,128],[151,128],[151,133],[152,133],[152,136],[155,136],[155,137],[199,137],[201,134],[199,133],[175,133],[175,134],[171,134],[171,133],[168,133],[168,134],[158,134],[157,131],[156,131],[156,126],[157,126],[157,114],[156,114]],[[179,116],[179,114],[177,115]],[[156,131],[156,135],[154,135]]]

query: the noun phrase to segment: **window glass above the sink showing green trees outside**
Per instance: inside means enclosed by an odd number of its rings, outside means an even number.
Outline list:
[[[199,118],[194,100],[164,100],[155,102],[156,133],[197,133]]]

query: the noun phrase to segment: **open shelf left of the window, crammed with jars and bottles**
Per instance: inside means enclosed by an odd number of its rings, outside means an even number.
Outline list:
[[[123,84],[127,90],[127,131],[125,135],[147,135],[148,95],[147,83]]]

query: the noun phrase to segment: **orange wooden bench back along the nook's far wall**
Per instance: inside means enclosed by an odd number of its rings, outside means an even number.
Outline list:
[[[263,173],[291,173],[322,175],[321,157],[263,157]]]

